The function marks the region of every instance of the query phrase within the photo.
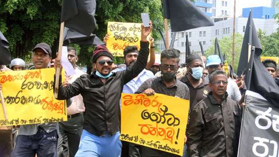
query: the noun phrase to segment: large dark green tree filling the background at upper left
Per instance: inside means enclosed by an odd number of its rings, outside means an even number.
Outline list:
[[[10,43],[12,58],[30,60],[34,45],[45,42],[57,51],[62,0],[0,1],[0,31]],[[156,28],[163,27],[161,0],[102,0],[96,1],[95,33],[101,39],[107,32],[108,21],[141,22],[140,13],[149,12]],[[153,31],[155,40],[159,33]],[[77,46],[80,64],[91,65],[92,46]]]

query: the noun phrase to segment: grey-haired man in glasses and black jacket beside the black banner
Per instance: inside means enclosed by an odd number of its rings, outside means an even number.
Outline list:
[[[237,156],[241,109],[226,92],[221,70],[210,74],[211,92],[191,111],[187,127],[189,156]]]

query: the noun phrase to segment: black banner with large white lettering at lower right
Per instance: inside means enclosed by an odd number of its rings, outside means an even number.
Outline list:
[[[238,156],[278,156],[279,109],[252,91],[245,103]]]

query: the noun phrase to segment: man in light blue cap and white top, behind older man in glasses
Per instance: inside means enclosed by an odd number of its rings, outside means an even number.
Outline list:
[[[208,76],[213,71],[223,70],[223,64],[221,62],[220,57],[218,55],[208,56],[206,60],[206,68],[208,70]],[[205,77],[206,82],[209,82],[208,76]],[[238,86],[231,78],[228,78],[227,93],[228,96],[234,101],[239,101],[241,99],[241,94],[238,89]]]

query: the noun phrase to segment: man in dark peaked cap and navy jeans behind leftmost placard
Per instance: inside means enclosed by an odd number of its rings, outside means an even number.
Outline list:
[[[45,43],[33,48],[32,62],[35,69],[47,68],[51,60],[51,49]],[[56,157],[57,123],[42,123],[20,126],[12,156],[49,156]]]

